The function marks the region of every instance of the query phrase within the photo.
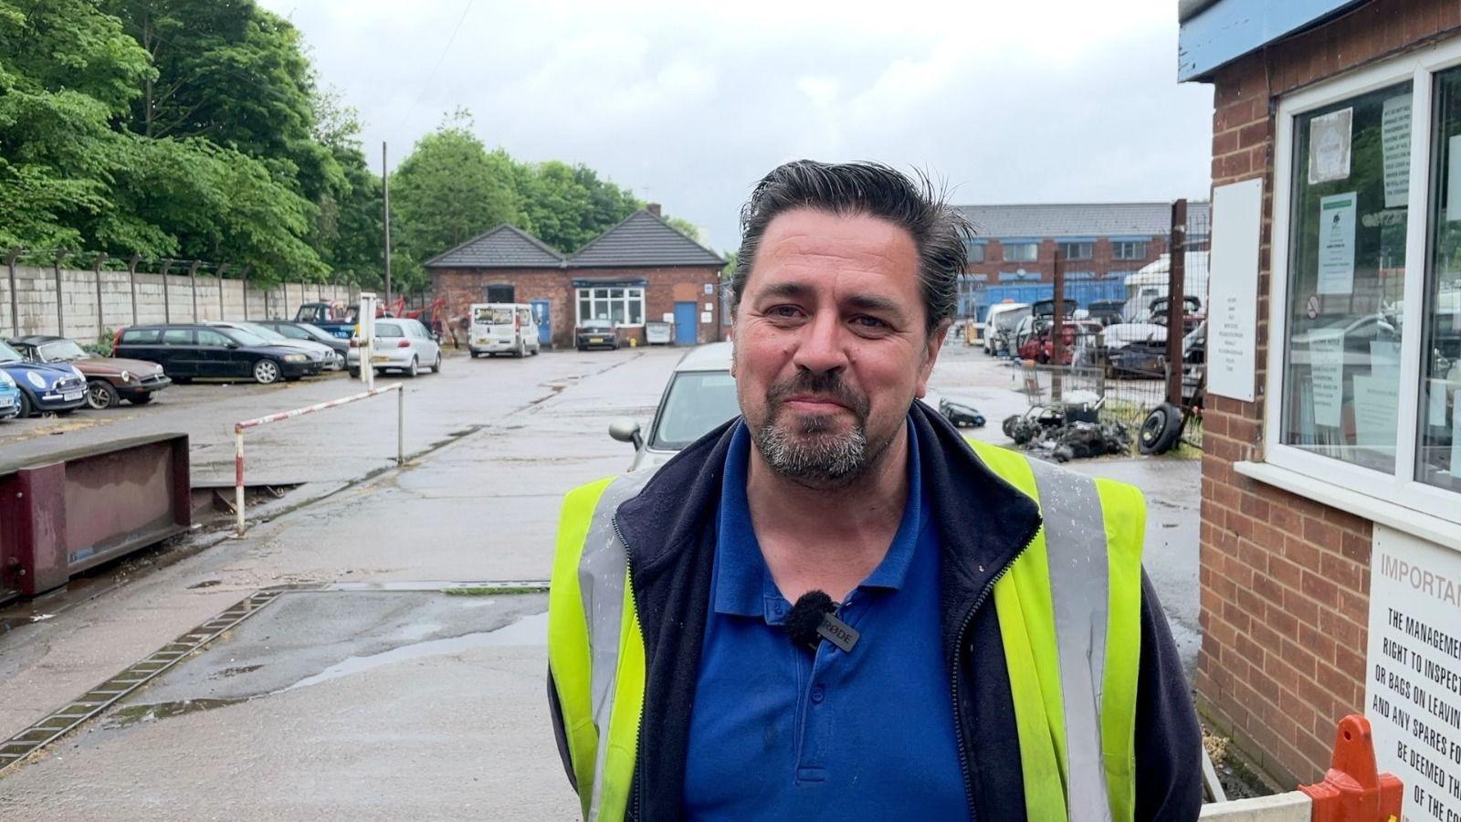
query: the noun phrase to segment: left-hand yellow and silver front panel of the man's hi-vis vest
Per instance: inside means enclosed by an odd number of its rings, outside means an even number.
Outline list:
[[[549,591],[548,661],[568,728],[583,815],[593,821],[624,818],[634,777],[644,701],[644,641],[628,585],[628,554],[614,528],[614,512],[637,494],[650,475],[652,471],[637,471],[586,486],[579,497],[570,494],[558,529]],[[565,532],[577,537],[576,547],[564,544]],[[562,592],[555,598],[560,585]],[[562,655],[554,652],[558,627],[562,633],[581,632],[581,645],[570,639],[570,645],[577,646],[579,661],[561,660]],[[586,671],[580,663],[584,658]],[[574,699],[576,720],[581,717],[587,723],[570,720],[565,693]],[[573,733],[583,724],[592,733]]]

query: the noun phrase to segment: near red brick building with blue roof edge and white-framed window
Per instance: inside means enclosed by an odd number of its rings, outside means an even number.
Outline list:
[[[1457,818],[1461,4],[1179,18],[1216,92],[1199,706],[1287,785],[1365,712],[1407,819]]]

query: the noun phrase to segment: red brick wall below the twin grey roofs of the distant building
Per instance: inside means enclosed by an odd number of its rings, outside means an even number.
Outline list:
[[[704,304],[712,303],[712,322],[698,323],[698,341],[720,339],[720,297],[716,290],[720,282],[719,268],[431,269],[431,290],[435,297],[446,300],[447,316],[451,317],[466,316],[468,306],[485,301],[484,290],[488,285],[513,285],[519,303],[549,300],[552,341],[558,348],[573,347],[573,326],[577,320],[574,279],[649,281],[644,290],[646,320],[674,313],[676,294],[681,300],[695,301],[697,319]],[[706,284],[712,287],[712,294],[704,293]],[[644,344],[643,329],[621,329],[619,336],[625,341],[637,338],[640,345]]]

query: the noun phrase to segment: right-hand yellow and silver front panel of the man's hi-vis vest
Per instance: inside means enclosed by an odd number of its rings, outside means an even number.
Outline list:
[[[1034,499],[1045,519],[995,584],[1027,813],[1031,821],[1126,822],[1135,799],[1141,493],[1008,449],[974,443],[974,450]],[[1053,667],[1042,648],[1053,648]],[[1042,724],[1048,744],[1036,731]]]

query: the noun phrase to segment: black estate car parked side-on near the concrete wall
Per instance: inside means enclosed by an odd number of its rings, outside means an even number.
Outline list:
[[[124,328],[117,332],[111,355],[158,363],[177,383],[228,377],[269,385],[320,373],[302,351],[272,345],[237,328],[202,323]]]

